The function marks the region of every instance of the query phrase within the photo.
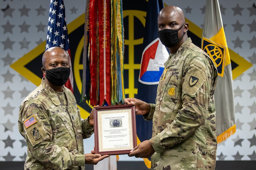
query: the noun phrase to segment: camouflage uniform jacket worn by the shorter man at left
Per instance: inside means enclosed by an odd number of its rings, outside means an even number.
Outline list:
[[[81,121],[73,93],[63,91],[66,100],[42,79],[20,106],[18,127],[28,146],[25,170],[85,169],[83,138],[94,129],[88,119]]]

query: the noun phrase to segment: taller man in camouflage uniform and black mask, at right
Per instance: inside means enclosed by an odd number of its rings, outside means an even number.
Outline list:
[[[171,54],[164,63],[156,103],[124,100],[136,106],[136,114],[153,120],[152,138],[129,156],[151,156],[151,168],[156,170],[215,169],[217,68],[187,37],[188,23],[180,8],[167,6],[160,11],[158,31]]]

